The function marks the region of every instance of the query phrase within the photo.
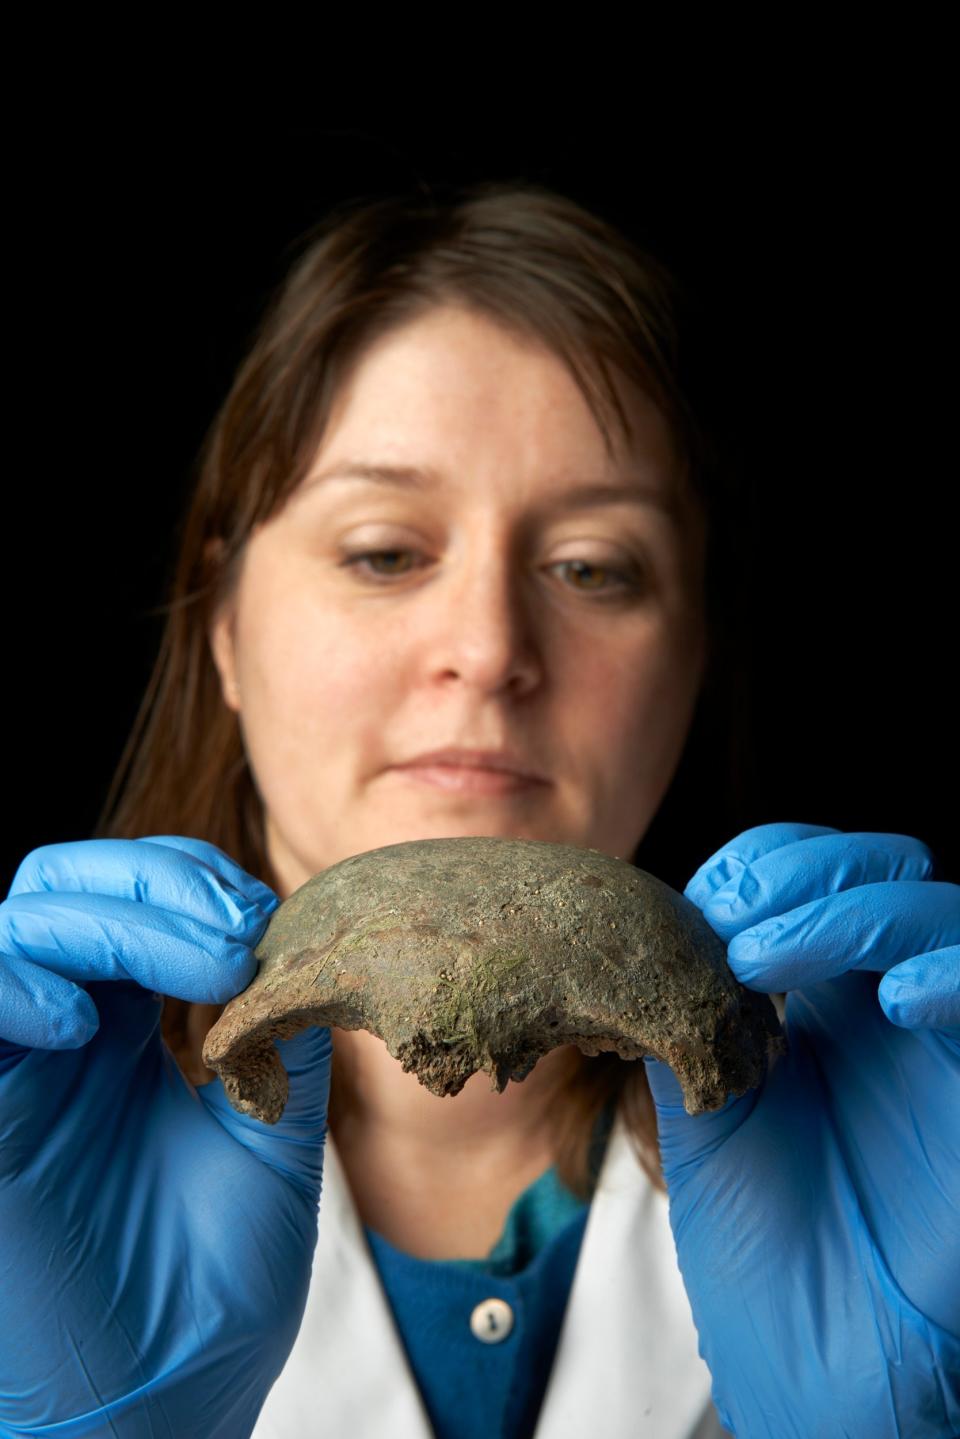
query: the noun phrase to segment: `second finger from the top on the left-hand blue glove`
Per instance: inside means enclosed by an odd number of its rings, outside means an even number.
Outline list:
[[[256,935],[256,943],[279,901],[259,881],[252,881],[252,892],[237,888],[242,876],[201,840],[88,839],[32,850],[7,898],[50,891],[112,895],[190,915],[236,938]]]

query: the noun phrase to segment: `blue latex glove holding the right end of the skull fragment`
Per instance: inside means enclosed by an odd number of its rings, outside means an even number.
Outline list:
[[[740,1439],[960,1433],[960,886],[904,835],[760,825],[685,894],[789,1053],[712,1114],[646,1061],[681,1272]]]

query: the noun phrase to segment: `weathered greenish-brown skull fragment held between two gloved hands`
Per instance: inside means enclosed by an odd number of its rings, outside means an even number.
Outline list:
[[[502,1091],[557,1045],[655,1055],[689,1114],[763,1076],[783,1048],[699,909],[596,849],[425,839],[351,855],[272,915],[259,970],[207,1035],[230,1104],[273,1124],[273,1045],[307,1025],[367,1029],[436,1095],[476,1071]]]

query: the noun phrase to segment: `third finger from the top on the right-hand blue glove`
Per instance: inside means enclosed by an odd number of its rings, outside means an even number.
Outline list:
[[[779,993],[957,943],[960,886],[902,879],[825,895],[743,930],[727,963],[747,989]]]

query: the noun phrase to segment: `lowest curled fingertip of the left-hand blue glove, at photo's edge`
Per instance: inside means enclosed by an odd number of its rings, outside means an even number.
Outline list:
[[[50,970],[0,954],[0,1039],[24,1049],[79,1049],[99,1027],[85,990]]]

